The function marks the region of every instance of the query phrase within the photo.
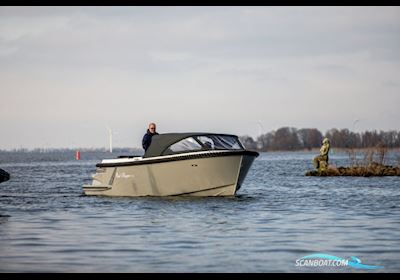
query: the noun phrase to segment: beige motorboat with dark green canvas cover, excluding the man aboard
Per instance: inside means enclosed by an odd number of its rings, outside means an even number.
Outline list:
[[[235,135],[159,134],[143,157],[102,160],[83,190],[107,196],[232,196],[258,155]]]

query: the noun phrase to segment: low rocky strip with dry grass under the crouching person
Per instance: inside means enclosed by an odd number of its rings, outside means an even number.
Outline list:
[[[306,176],[400,176],[400,167],[372,163],[367,166],[335,167],[329,166],[326,170],[307,171]]]

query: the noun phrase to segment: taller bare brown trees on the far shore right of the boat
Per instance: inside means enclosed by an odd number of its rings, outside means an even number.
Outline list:
[[[400,130],[352,132],[347,128],[332,128],[322,134],[316,128],[281,127],[262,134],[255,140],[248,135],[240,136],[240,141],[247,149],[261,152],[296,151],[320,148],[325,137],[330,140],[331,147],[335,148],[400,148]]]

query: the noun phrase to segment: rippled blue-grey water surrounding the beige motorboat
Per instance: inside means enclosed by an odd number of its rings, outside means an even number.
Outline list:
[[[89,197],[97,160],[0,158],[0,272],[399,272],[400,177],[306,177],[314,155],[261,154],[230,198]]]

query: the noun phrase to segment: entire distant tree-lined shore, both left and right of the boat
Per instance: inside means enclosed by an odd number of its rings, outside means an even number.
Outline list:
[[[352,132],[347,128],[329,129],[325,134],[322,134],[316,128],[302,128],[297,129],[294,127],[281,127],[277,130],[258,136],[255,140],[248,135],[240,136],[240,141],[243,145],[250,150],[261,152],[267,151],[297,151],[297,150],[311,150],[320,148],[324,138],[330,140],[331,147],[343,149],[361,149],[361,148],[400,148],[400,130],[390,131],[364,131]],[[26,149],[19,148],[11,151],[0,149],[1,154],[9,153],[65,153],[73,154],[76,150],[85,152],[86,155],[95,154],[96,158],[98,153],[108,153],[107,148],[36,148]],[[113,149],[115,154],[143,154],[141,148],[117,148]]]

